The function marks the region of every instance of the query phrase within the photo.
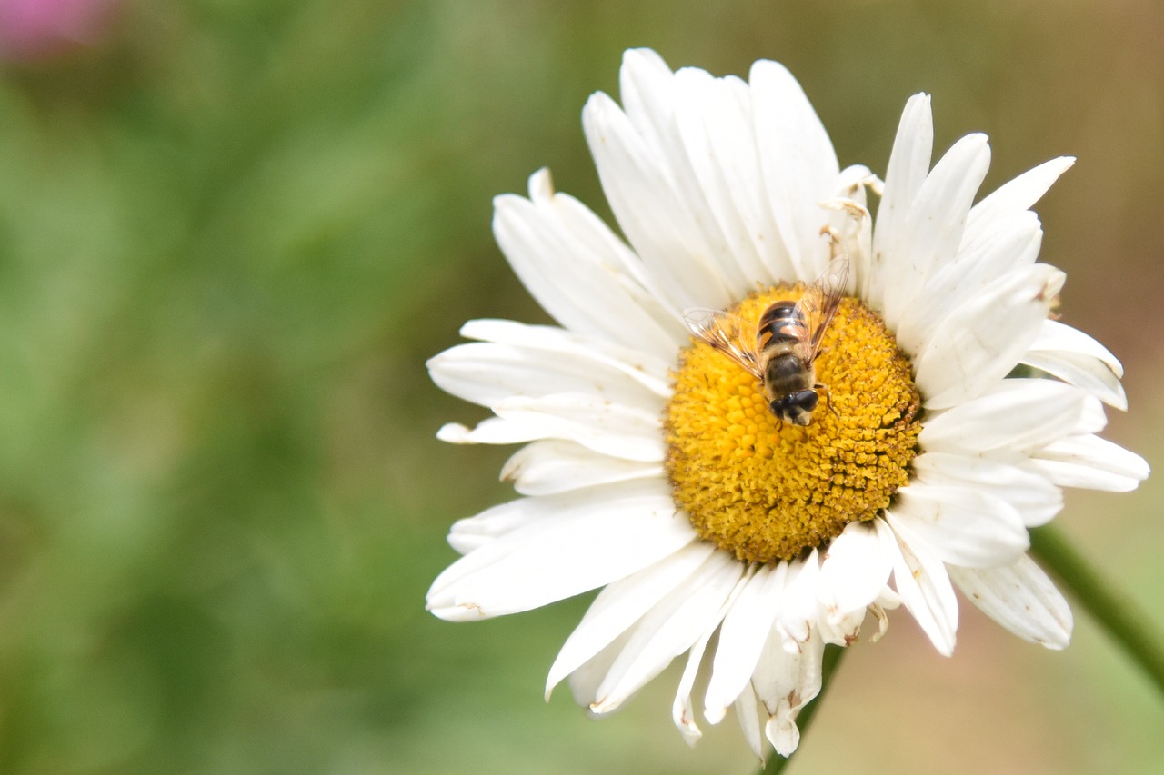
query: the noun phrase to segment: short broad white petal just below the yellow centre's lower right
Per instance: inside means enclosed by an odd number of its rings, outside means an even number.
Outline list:
[[[825,620],[839,625],[853,612],[876,599],[889,581],[893,555],[881,552],[876,528],[870,522],[849,522],[832,540],[821,563],[817,599]]]

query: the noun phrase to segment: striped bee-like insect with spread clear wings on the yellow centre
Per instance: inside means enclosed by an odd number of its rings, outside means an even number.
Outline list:
[[[760,381],[768,407],[780,424],[805,426],[823,390],[814,363],[849,279],[849,258],[833,258],[824,273],[805,289],[799,301],[776,301],[755,322],[730,312],[691,308],[683,313],[687,327]],[[835,410],[833,410],[835,411]]]

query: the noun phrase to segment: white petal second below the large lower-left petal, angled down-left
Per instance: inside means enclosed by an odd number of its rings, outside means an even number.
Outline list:
[[[674,593],[651,609],[603,678],[590,710],[616,710],[714,627],[743,573],[744,566],[734,557],[717,552]]]

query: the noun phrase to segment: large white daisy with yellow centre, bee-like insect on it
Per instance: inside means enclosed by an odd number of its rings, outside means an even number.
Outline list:
[[[954,647],[961,589],[1024,640],[1063,648],[1067,604],[1028,557],[1028,527],[1060,488],[1130,490],[1148,465],[1095,435],[1126,407],[1115,357],[1049,319],[1064,275],[1035,263],[1034,202],[1057,158],[977,205],[982,135],[930,168],[930,98],[906,106],[882,184],[842,170],[796,80],[758,62],[747,83],[625,55],[619,107],[583,125],[623,242],[553,191],[496,200],[497,241],[561,327],[475,320],[475,343],[428,363],[446,391],[494,412],[459,443],[525,443],[516,500],[456,522],[464,556],[428,609],[456,621],[603,588],[549,671],[594,713],[617,709],[687,653],[674,719],[734,706],[762,758],[800,733],[825,644],[899,603]],[[866,190],[880,194],[874,226]],[[753,319],[795,299],[830,258],[849,297],[816,362],[829,407],[781,424],[751,374],[693,339],[688,307]],[[1007,378],[1025,364],[1051,378]],[[1032,374],[1028,370],[1027,374]],[[830,411],[831,410],[831,411]],[[708,645],[718,632],[714,654]]]

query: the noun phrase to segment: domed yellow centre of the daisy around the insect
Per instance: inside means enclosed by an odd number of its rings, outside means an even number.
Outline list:
[[[802,293],[781,285],[731,312],[757,320]],[[682,351],[673,375],[665,428],[675,504],[700,535],[744,562],[824,547],[849,522],[873,519],[909,479],[921,398],[881,319],[842,300],[815,368],[828,391],[804,427],[781,427],[760,381],[702,341]]]

